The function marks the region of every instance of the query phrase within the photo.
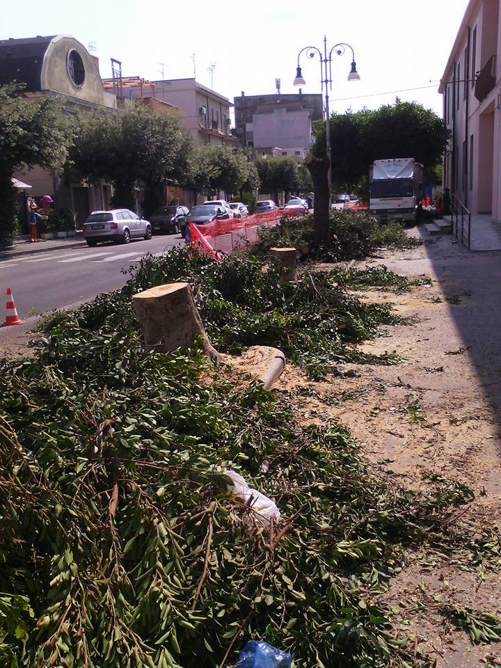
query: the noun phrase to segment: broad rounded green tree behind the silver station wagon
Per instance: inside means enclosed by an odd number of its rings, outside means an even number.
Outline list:
[[[166,180],[180,179],[189,146],[175,116],[136,102],[116,113],[82,114],[72,161],[89,182],[113,184],[113,205],[132,208],[134,187],[143,184],[152,209]]]

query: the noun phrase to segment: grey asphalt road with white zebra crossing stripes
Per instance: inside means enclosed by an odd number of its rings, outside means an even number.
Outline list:
[[[127,280],[129,269],[146,253],[162,255],[184,244],[180,234],[138,239],[130,244],[100,244],[95,248],[64,248],[13,257],[0,262],[0,323],[5,315],[6,288],[13,292],[21,319],[54,308],[88,301],[102,292],[117,289]]]

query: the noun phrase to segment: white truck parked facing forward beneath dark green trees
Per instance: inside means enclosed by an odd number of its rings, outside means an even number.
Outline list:
[[[378,221],[416,222],[423,196],[423,166],[414,158],[374,160],[369,167],[369,213]]]

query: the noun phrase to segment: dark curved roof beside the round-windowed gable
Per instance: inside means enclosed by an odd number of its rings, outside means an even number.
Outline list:
[[[40,90],[45,51],[56,35],[0,40],[0,85],[22,81],[25,90]]]

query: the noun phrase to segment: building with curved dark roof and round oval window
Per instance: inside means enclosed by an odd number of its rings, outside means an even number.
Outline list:
[[[71,35],[0,41],[0,84],[25,84],[24,97],[62,95],[68,113],[77,109],[116,111],[116,96],[102,85],[97,58]],[[111,186],[89,185],[75,174],[58,174],[41,167],[16,174],[31,187],[31,195],[50,195],[56,207],[72,209],[77,224],[90,211],[109,205]]]

